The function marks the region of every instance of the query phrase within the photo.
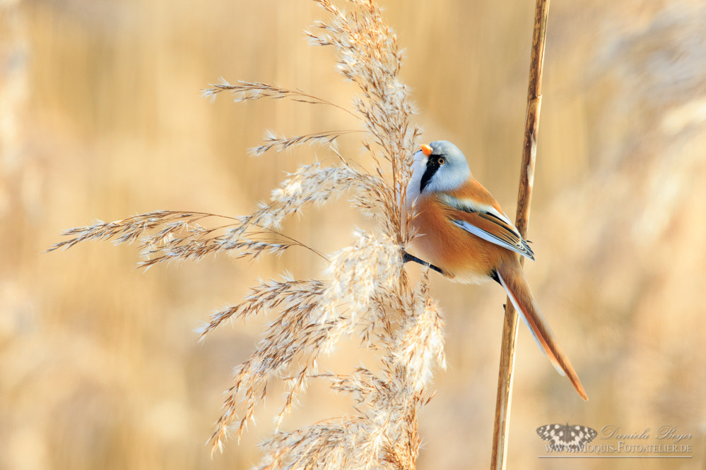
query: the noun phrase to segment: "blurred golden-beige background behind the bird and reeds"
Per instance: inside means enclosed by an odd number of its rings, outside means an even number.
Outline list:
[[[341,2],[343,3],[343,2]],[[447,139],[514,215],[534,2],[381,0],[406,48],[424,141]],[[259,278],[321,277],[300,250],[135,270],[134,247],[40,254],[69,227],[157,209],[246,214],[326,148],[249,157],[267,129],[346,129],[329,107],[214,103],[223,77],[348,105],[308,0],[0,1],[0,469],[246,469],[273,430],[271,390],[240,445],[204,442],[264,320],[196,327]],[[706,468],[706,6],[555,0],[548,23],[530,284],[590,401],[519,333],[508,469]],[[362,155],[360,141],[341,150]],[[345,198],[343,198],[345,199]],[[309,210],[284,231],[332,253],[370,220]],[[409,267],[415,270],[416,267]],[[419,469],[490,461],[502,289],[433,279],[449,367],[420,414]],[[355,342],[331,361],[355,365]],[[288,429],[351,413],[324,385]],[[676,426],[684,459],[540,459],[535,429]],[[628,443],[631,441],[628,440]],[[594,444],[615,444],[601,440]],[[593,454],[594,457],[605,454]]]

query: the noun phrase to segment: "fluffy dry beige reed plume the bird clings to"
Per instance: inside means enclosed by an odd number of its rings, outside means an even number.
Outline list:
[[[339,71],[358,85],[353,110],[346,111],[357,116],[372,136],[372,143],[364,140],[363,145],[376,162],[373,172],[352,167],[331,146],[351,131],[293,138],[272,134],[254,149],[255,155],[271,148],[324,143],[338,157],[336,164],[302,166],[272,192],[269,203],[245,217],[221,217],[226,224],[202,226],[220,217],[208,213],[149,212],[70,229],[64,233],[70,238],[49,251],[110,239],[117,244],[138,242],[146,257],[141,267],[216,253],[257,258],[302,246],[277,231],[284,219],[307,205],[323,205],[351,194],[355,207],[375,215],[378,229],[356,232],[353,245],[331,255],[326,280],[284,275],[281,280],[261,282],[241,303],[213,314],[201,328],[203,339],[226,320],[277,312],[255,351],[235,369],[211,443],[213,450],[220,450],[230,428],[240,438],[271,380],[285,380],[288,385],[278,428],[312,380],[327,380],[334,392],[351,395],[355,414],[290,432],[277,430],[262,444],[265,457],[257,468],[413,469],[420,442],[417,412],[430,399],[426,389],[434,368],[445,366],[443,323],[428,296],[427,278],[413,288],[402,269],[404,246],[411,236],[404,229],[405,188],[420,131],[411,123],[413,107],[398,78],[401,53],[396,37],[380,8],[372,0],[349,0],[351,11],[345,13],[328,0],[315,1],[331,19],[317,22],[318,31],[307,35],[312,44],[334,46]],[[204,95],[215,97],[220,92],[232,93],[236,102],[287,98],[337,107],[301,90],[265,83],[223,81]],[[360,338],[380,363],[374,368],[361,366],[350,375],[319,372],[319,357],[329,354],[343,336]]]

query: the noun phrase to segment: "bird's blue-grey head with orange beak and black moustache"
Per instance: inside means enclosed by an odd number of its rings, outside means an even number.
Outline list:
[[[414,155],[409,196],[421,193],[452,191],[471,177],[471,169],[463,152],[447,140],[422,145]]]

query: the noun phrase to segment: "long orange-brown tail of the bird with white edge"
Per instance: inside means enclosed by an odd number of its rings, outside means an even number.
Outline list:
[[[540,349],[544,351],[554,368],[561,375],[567,375],[579,395],[584,400],[587,400],[588,397],[576,371],[556,341],[549,324],[544,319],[539,306],[534,300],[529,284],[527,284],[522,274],[522,267],[519,265],[519,261],[515,259],[514,263],[503,263],[498,269],[498,279],[500,279],[500,284],[505,288],[512,305],[522,317],[522,320],[524,320],[524,324],[529,328]]]

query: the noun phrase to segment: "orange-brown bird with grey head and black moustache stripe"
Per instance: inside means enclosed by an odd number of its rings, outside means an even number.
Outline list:
[[[446,140],[422,145],[406,198],[414,211],[412,246],[424,261],[408,254],[405,260],[428,263],[455,282],[498,282],[556,370],[588,399],[522,273],[519,256],[534,260],[534,253],[498,201],[473,179],[459,147]]]

